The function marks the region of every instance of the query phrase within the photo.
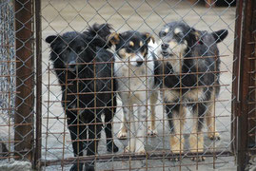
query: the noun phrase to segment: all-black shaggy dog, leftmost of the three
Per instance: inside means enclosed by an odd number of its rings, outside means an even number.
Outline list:
[[[111,126],[116,110],[116,96],[111,92],[116,86],[110,79],[114,70],[110,62],[114,62],[114,58],[106,44],[110,29],[108,24],[94,24],[83,33],[72,31],[50,35],[46,39],[51,48],[50,60],[62,89],[62,106],[68,118],[75,157],[83,156],[86,147],[87,155],[97,152],[103,112],[107,124],[107,149],[109,152],[118,151]],[[70,170],[82,171],[83,163],[77,161]],[[94,161],[86,164],[86,170],[94,170]]]

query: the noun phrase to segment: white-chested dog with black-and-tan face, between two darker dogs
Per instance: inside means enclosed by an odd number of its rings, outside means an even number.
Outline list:
[[[123,123],[118,138],[127,138],[130,125],[130,139],[125,152],[145,153],[144,138],[148,134],[156,134],[155,104],[158,93],[154,79],[156,59],[148,47],[149,33],[126,31],[112,33],[108,40],[115,45],[114,72],[118,85],[118,93],[123,104]],[[149,103],[148,103],[149,101]],[[133,105],[137,104],[137,112]],[[147,127],[148,105],[150,104],[150,125]],[[136,115],[137,114],[137,115]]]

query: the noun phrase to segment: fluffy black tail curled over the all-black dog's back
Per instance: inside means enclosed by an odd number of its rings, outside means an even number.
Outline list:
[[[91,46],[108,48],[111,45],[107,43],[107,36],[111,33],[111,29],[108,23],[102,25],[95,23],[83,33],[86,35],[87,42]]]

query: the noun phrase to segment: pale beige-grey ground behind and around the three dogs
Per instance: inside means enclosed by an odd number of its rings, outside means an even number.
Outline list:
[[[190,26],[203,30],[228,29],[226,40],[218,45],[220,48],[222,64],[221,70],[221,93],[218,98],[220,102],[216,104],[216,125],[220,133],[220,141],[209,141],[205,138],[205,151],[214,148],[216,151],[229,151],[233,140],[231,139],[231,84],[232,84],[232,62],[233,62],[233,42],[234,42],[234,7],[216,7],[207,9],[204,4],[190,4],[187,0],[43,0],[42,1],[42,29],[43,39],[51,34],[61,34],[66,31],[84,31],[93,23],[108,22],[115,31],[122,32],[128,29],[147,31],[154,35],[160,28],[168,22],[184,20]],[[57,84],[55,75],[49,70],[49,46],[43,40],[43,160],[62,160],[72,157],[72,147],[69,139],[69,130],[64,119],[64,112],[59,102],[61,101],[61,91]],[[54,101],[48,103],[48,101]],[[121,105],[119,101],[119,106]],[[157,131],[155,138],[148,138],[147,150],[169,151],[168,126],[161,99],[157,106]],[[116,134],[119,131],[122,109],[118,107],[114,119],[114,139],[119,146],[119,152],[128,141],[119,141]],[[191,117],[188,112],[187,117]],[[191,121],[186,123],[186,149],[188,149],[187,137],[191,131]],[[206,131],[206,129],[204,129]],[[47,134],[48,133],[48,134]],[[165,135],[163,137],[163,135]],[[105,133],[102,132],[102,139]],[[106,155],[106,143],[101,141],[99,145],[99,155]],[[215,162],[215,164],[213,164]],[[182,166],[181,166],[182,165]],[[97,170],[233,170],[234,157],[207,157],[206,161],[190,161],[185,158],[182,161],[106,161],[96,164]],[[70,165],[65,165],[64,170],[69,170]],[[44,170],[61,170],[60,165],[44,167]]]

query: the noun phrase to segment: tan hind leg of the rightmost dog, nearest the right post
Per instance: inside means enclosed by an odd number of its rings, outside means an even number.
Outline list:
[[[210,140],[221,140],[219,133],[216,131],[215,116],[214,116],[214,103],[207,104],[207,136]]]

